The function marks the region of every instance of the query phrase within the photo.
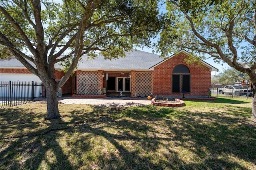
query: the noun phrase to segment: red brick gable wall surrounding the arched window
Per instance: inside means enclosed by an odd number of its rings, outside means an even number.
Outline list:
[[[154,95],[182,95],[172,93],[172,70],[176,65],[186,65],[190,70],[190,93],[186,95],[207,96],[208,88],[211,87],[211,71],[209,68],[198,65],[188,65],[184,62],[187,57],[184,53],[179,53],[154,67],[153,71],[153,94]]]

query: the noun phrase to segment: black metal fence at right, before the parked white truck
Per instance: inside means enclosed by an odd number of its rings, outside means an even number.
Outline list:
[[[211,96],[216,98],[244,98],[252,99],[251,87],[239,85],[215,85],[210,89]]]

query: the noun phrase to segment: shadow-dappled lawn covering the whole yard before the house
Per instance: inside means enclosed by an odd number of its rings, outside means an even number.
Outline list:
[[[252,101],[185,101],[186,106],[64,105],[1,109],[0,169],[256,169]]]

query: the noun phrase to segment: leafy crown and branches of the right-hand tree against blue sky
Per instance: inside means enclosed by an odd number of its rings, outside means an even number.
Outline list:
[[[256,61],[254,1],[168,1],[166,9],[156,45],[163,56],[186,49],[222,59],[240,71],[251,71]]]

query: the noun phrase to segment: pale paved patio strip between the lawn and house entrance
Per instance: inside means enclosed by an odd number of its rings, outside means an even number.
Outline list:
[[[45,98],[37,99],[45,101]],[[145,106],[150,105],[151,101],[146,98],[130,98],[130,97],[105,97],[105,98],[72,98],[58,97],[58,102],[61,104],[87,104],[100,107],[129,107],[129,106]]]

